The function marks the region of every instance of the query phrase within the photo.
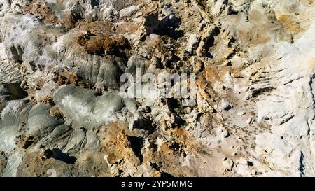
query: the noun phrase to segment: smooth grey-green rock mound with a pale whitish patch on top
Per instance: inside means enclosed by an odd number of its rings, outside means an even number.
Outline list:
[[[105,92],[102,96],[95,94],[82,87],[64,85],[53,98],[73,129],[90,129],[116,120],[116,112],[123,108],[118,92]]]

